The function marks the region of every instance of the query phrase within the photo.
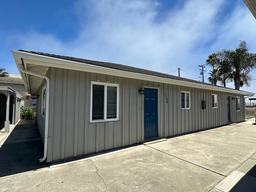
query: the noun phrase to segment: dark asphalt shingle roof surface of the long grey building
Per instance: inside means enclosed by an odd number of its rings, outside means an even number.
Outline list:
[[[197,83],[197,84],[201,84],[201,85],[225,88],[225,87],[221,87],[219,85],[212,85],[209,83],[204,83],[202,81],[195,81],[192,79],[182,78],[182,77],[173,76],[173,75],[169,75],[169,74],[165,74],[165,73],[160,73],[160,72],[151,71],[151,70],[147,70],[147,69],[137,68],[137,67],[133,67],[133,66],[121,65],[121,64],[116,64],[116,63],[107,63],[107,62],[102,62],[102,61],[92,61],[92,60],[87,60],[87,59],[80,59],[80,58],[75,58],[75,57],[67,57],[67,56],[54,55],[54,54],[46,54],[46,53],[26,51],[26,50],[19,50],[19,51],[36,54],[36,55],[43,55],[43,56],[47,56],[47,57],[54,57],[54,58],[58,58],[58,59],[65,59],[68,61],[87,63],[87,64],[91,64],[91,65],[96,65],[96,66],[103,66],[103,67],[107,67],[107,68],[113,68],[113,69],[129,71],[129,72],[134,72],[134,73],[139,73],[139,74],[147,74],[147,75],[161,77],[161,78],[175,79],[175,80],[179,80],[179,81],[186,81],[186,82]],[[225,89],[234,90],[231,88],[225,88]]]

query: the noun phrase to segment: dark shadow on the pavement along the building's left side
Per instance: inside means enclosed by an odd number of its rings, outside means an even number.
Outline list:
[[[0,148],[0,177],[47,167],[35,119],[20,120]]]

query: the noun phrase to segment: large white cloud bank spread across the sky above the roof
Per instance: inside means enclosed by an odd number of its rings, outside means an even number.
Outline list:
[[[159,19],[160,1],[80,0],[74,6],[80,23],[74,41],[64,42],[54,34],[38,31],[19,34],[16,40],[25,50],[159,72],[194,67],[187,72],[199,75],[197,66],[205,63],[208,54],[223,48],[235,49],[240,39],[256,52],[256,44],[252,44],[256,20],[244,4],[236,4],[229,17],[217,22],[225,3],[224,0],[188,0]],[[181,74],[195,78],[185,72]]]

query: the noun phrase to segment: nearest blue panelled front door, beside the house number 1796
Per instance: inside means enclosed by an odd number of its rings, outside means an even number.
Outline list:
[[[144,139],[158,137],[158,89],[144,89]]]

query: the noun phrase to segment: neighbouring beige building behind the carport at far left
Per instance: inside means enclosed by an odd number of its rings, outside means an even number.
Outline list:
[[[22,95],[20,106],[31,107],[32,98],[27,93],[24,82],[20,75],[10,74],[9,77],[0,77],[0,86],[9,86]]]

